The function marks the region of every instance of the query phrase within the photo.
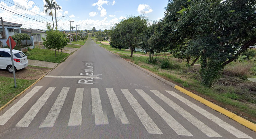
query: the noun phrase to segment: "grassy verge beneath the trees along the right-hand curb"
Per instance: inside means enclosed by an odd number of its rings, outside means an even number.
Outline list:
[[[106,47],[108,50],[112,51],[111,48]],[[205,86],[201,85],[199,80],[195,77],[198,76],[196,73],[190,73],[188,71],[194,71],[195,67],[192,69],[188,69],[186,67],[186,62],[180,59],[176,59],[174,57],[169,57],[169,68],[161,69],[159,61],[156,63],[149,63],[147,61],[148,57],[130,57],[127,54],[120,54],[119,55],[127,59],[140,67],[147,69],[154,74],[161,76],[162,78],[169,80],[181,86],[187,90],[191,90],[191,92],[205,98],[223,108],[227,108],[231,112],[242,116],[243,118],[256,123],[256,102],[249,100],[249,92],[248,94],[239,94],[241,90],[238,90],[236,86],[223,86],[220,84],[215,84],[212,88],[206,88]],[[165,56],[167,57],[167,56]],[[161,59],[161,58],[159,58]],[[235,63],[236,65],[238,63]],[[199,71],[199,69],[198,69]],[[245,80],[246,84],[254,84]],[[250,85],[251,86],[251,85]],[[245,90],[244,90],[245,91]],[[249,96],[249,97],[248,97]],[[245,102],[245,103],[244,103]]]

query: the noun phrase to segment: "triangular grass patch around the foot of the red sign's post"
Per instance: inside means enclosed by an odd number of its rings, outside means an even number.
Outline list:
[[[14,88],[14,79],[0,76],[0,107],[12,100],[16,95],[20,94],[28,86],[33,84],[36,80],[17,79],[17,88]]]

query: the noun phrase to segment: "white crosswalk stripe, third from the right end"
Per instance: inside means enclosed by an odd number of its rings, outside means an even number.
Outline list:
[[[143,90],[135,89],[146,102],[165,120],[165,122],[181,136],[193,136],[186,128],[177,122],[168,112],[158,105],[148,94]]]

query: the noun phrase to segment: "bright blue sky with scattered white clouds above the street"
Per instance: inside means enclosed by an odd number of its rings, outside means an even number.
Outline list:
[[[159,20],[164,17],[164,7],[168,3],[168,0],[55,1],[61,8],[56,11],[58,29],[66,31],[70,30],[69,21],[74,21],[71,26],[79,30],[93,27],[104,30],[110,29],[129,15],[145,14],[152,21]],[[3,21],[19,23],[25,28],[46,29],[46,23],[51,23],[52,26],[52,19],[49,12],[45,13],[44,3],[45,0],[0,0],[0,16]],[[55,12],[52,10],[55,26]]]

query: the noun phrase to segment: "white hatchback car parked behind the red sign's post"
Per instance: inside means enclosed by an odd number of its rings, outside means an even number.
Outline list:
[[[28,66],[28,57],[22,51],[12,50],[15,72]],[[13,73],[11,52],[9,48],[0,48],[0,69]]]

